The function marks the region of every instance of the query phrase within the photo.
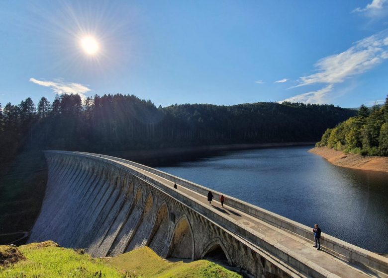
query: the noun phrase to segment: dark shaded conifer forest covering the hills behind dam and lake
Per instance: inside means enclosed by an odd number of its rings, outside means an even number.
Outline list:
[[[232,106],[182,104],[158,108],[134,95],[78,94],[0,104],[0,159],[21,150],[108,152],[205,144],[317,141],[355,116],[333,105],[258,102]]]

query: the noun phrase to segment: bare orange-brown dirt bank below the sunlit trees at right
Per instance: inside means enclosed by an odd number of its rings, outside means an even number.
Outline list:
[[[337,166],[388,172],[388,157],[381,156],[362,156],[354,153],[344,153],[343,151],[335,150],[328,147],[315,147],[309,150],[314,154],[320,155],[326,158],[330,163]]]

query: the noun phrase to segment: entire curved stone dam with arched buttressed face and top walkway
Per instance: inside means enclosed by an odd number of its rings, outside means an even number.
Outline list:
[[[163,258],[223,258],[257,278],[388,278],[388,258],[324,233],[317,251],[310,227],[230,196],[225,208],[210,206],[208,188],[179,177],[106,155],[45,156],[48,184],[29,242],[94,257],[149,246]]]

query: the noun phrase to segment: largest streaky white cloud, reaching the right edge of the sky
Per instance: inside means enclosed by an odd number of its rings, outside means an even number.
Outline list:
[[[355,43],[348,50],[325,57],[315,64],[316,73],[302,76],[295,87],[315,83],[341,83],[388,59],[388,36],[379,33]]]

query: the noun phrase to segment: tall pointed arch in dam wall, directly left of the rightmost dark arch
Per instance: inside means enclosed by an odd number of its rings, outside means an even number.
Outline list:
[[[168,257],[194,259],[194,238],[192,228],[186,216],[175,225]]]

